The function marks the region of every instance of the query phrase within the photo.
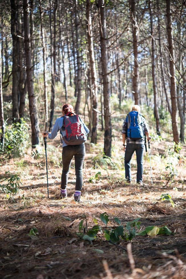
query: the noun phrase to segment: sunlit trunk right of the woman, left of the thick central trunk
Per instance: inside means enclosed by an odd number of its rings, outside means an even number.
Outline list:
[[[87,19],[87,37],[88,37],[88,51],[90,59],[91,69],[91,83],[92,83],[92,137],[91,142],[96,143],[97,140],[97,124],[98,124],[98,85],[97,85],[97,73],[96,63],[94,57],[94,45],[93,45],[93,34],[92,34],[92,19],[91,19],[91,3],[90,0],[86,0],[86,19]]]

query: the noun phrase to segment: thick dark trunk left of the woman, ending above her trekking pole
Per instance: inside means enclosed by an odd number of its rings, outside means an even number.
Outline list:
[[[39,144],[39,123],[38,114],[36,107],[36,97],[34,95],[33,85],[33,71],[32,71],[32,58],[31,58],[31,47],[30,47],[30,28],[29,28],[29,17],[28,17],[28,1],[23,0],[23,15],[24,15],[24,48],[26,57],[26,77],[28,85],[28,99],[29,99],[29,110],[30,120],[32,128],[32,149]]]

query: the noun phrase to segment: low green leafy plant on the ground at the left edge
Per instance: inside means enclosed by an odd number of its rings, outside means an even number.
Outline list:
[[[7,180],[7,184],[0,184],[0,193],[13,194],[16,195],[20,191],[20,185],[22,185],[20,177],[18,175],[12,175],[10,179]]]

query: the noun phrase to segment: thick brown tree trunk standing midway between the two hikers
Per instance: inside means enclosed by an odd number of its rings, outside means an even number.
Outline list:
[[[107,52],[107,34],[106,34],[106,11],[104,0],[98,0],[99,7],[99,24],[100,24],[100,43],[101,43],[101,62],[103,76],[103,96],[104,96],[104,120],[105,120],[105,136],[104,136],[104,154],[111,157],[111,106],[110,92],[108,83],[108,52]]]

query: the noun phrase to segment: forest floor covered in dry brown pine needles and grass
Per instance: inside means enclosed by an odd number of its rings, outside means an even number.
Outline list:
[[[48,144],[58,146],[59,137]],[[0,199],[0,278],[186,278],[185,164],[183,160],[179,161],[178,177],[166,185],[164,172],[161,173],[157,156],[153,155],[157,150],[163,153],[166,144],[152,143],[153,185],[150,183],[148,156],[145,155],[146,186],[139,187],[135,183],[135,157],[132,161],[134,181],[127,185],[124,170],[109,166],[108,169],[93,168],[92,158],[100,151],[87,143],[81,203],[73,200],[73,164],[69,173],[68,197],[61,199],[61,167],[52,167],[49,158],[50,198],[47,199],[44,157],[34,159],[25,155],[22,160],[1,162],[1,181],[18,174],[22,186],[15,202],[9,202],[3,195]],[[123,156],[122,147],[120,152]],[[101,175],[93,183],[92,177],[99,171]],[[177,191],[173,187],[177,187]],[[160,200],[162,193],[171,195],[174,208],[169,202]],[[79,223],[85,216],[88,228],[94,225],[93,218],[104,227],[100,220],[103,212],[110,217],[108,226],[116,225],[113,219],[116,216],[123,225],[140,218],[141,229],[166,225],[173,234],[136,236],[131,241],[134,266],[127,241],[121,240],[113,245],[102,234],[92,242],[78,236]],[[28,235],[33,227],[38,229],[36,237]]]

